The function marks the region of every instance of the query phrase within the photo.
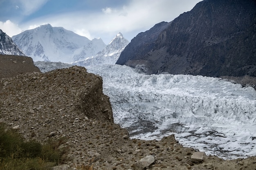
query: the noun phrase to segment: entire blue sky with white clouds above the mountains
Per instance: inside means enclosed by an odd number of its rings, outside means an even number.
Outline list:
[[[129,41],[155,24],[171,22],[202,0],[0,0],[0,29],[10,37],[43,24],[61,26],[108,44]]]

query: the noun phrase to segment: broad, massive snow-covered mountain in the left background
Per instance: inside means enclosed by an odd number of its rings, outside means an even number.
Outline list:
[[[100,38],[91,41],[50,24],[24,31],[12,39],[34,61],[74,62],[90,57],[106,46]]]

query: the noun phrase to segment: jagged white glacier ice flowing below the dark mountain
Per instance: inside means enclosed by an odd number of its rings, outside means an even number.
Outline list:
[[[131,138],[175,134],[185,147],[224,159],[256,155],[256,91],[220,78],[145,75],[120,65],[88,66],[103,77],[116,124]]]

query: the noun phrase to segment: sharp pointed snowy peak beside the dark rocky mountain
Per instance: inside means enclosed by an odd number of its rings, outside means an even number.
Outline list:
[[[102,51],[97,53],[97,55],[92,55],[85,60],[80,60],[72,64],[79,66],[115,64],[121,52],[128,44],[129,41],[124,38],[121,33],[118,33]]]

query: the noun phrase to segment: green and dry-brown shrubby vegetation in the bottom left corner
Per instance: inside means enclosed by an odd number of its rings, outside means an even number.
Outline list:
[[[46,144],[25,141],[17,130],[0,124],[0,170],[49,170],[63,163],[67,147],[65,139],[49,139]]]

